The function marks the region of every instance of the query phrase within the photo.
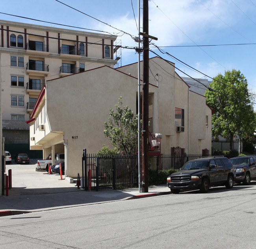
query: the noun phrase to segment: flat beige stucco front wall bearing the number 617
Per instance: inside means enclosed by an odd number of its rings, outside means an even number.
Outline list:
[[[109,144],[103,133],[104,122],[120,96],[125,95],[123,105],[136,113],[136,86],[134,77],[106,66],[46,83],[51,130],[64,131],[68,143],[69,176],[80,172],[83,149],[96,153],[103,144]]]

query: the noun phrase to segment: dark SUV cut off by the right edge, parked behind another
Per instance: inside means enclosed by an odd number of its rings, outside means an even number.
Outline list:
[[[233,157],[230,162],[235,168],[235,182],[250,184],[251,180],[256,180],[256,155]]]

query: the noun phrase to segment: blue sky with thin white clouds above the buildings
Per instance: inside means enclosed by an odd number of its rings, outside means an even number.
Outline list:
[[[132,10],[133,3],[137,20],[137,0],[60,1],[133,37],[137,36],[138,30]],[[148,5],[149,34],[158,37],[158,41],[152,42],[157,46],[165,46],[161,49],[210,77],[219,73],[224,74],[225,70],[233,68],[240,70],[247,78],[249,89],[256,93],[256,44],[252,44],[256,43],[256,0],[151,0]],[[13,0],[11,2],[1,0],[0,12],[49,23],[109,31],[119,35],[118,39],[122,41],[122,46],[137,46],[130,35],[123,34],[56,0]],[[0,14],[0,19],[50,25],[4,14]],[[63,28],[56,24],[54,26]],[[248,45],[195,46],[245,43]],[[169,55],[160,53],[154,46],[151,46],[151,49],[163,58],[174,62],[178,69],[189,76],[205,77],[178,63]],[[154,56],[150,54],[150,57]],[[137,54],[134,50],[122,50],[122,65],[136,61]],[[186,76],[178,70],[176,72],[180,76]]]

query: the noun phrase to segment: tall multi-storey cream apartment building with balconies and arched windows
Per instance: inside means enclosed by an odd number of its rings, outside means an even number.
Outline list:
[[[46,81],[104,65],[113,68],[118,61],[114,54],[116,38],[105,33],[0,20],[2,132],[6,149],[18,150],[19,145],[29,149],[29,125],[24,121],[30,119]],[[58,91],[54,94],[58,95]]]

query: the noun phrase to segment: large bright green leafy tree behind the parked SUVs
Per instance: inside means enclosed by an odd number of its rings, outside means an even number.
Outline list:
[[[247,80],[238,70],[225,71],[213,78],[205,92],[206,103],[213,109],[212,134],[230,141],[245,138],[255,132],[256,116],[252,108],[252,95]]]

